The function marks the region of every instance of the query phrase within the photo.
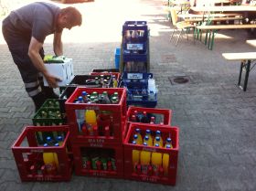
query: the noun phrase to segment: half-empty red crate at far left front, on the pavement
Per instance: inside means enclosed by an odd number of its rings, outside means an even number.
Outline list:
[[[60,146],[44,147],[37,143],[36,133],[61,133],[64,137]],[[12,146],[17,169],[22,181],[69,181],[72,173],[72,155],[69,153],[69,126],[27,126]],[[44,163],[44,153],[54,154],[58,165]],[[55,168],[53,167],[55,166]]]

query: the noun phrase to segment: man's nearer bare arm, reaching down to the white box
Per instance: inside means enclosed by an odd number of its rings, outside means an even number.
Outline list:
[[[46,69],[43,59],[39,54],[39,50],[43,47],[43,44],[37,41],[35,37],[31,37],[29,48],[28,48],[28,57],[33,62],[34,66],[42,72],[45,78],[48,80],[48,85],[51,88],[57,88],[59,78],[52,76],[48,73],[48,69]]]

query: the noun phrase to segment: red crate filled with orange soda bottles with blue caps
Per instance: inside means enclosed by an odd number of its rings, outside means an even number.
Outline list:
[[[178,132],[174,126],[131,122],[123,143],[124,178],[175,186]]]

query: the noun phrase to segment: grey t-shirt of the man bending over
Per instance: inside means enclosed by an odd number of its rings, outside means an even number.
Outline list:
[[[35,37],[43,43],[48,35],[57,30],[56,20],[59,11],[57,5],[37,2],[13,11],[9,18],[17,33]]]

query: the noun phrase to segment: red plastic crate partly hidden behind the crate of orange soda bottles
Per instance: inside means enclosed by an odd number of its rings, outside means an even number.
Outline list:
[[[131,119],[134,111],[138,111],[139,113],[146,111],[148,117],[155,116],[156,118],[155,123],[160,124],[160,122],[163,122],[163,124],[165,125],[171,125],[171,120],[172,120],[171,110],[130,106],[127,111],[127,122],[132,122]]]

